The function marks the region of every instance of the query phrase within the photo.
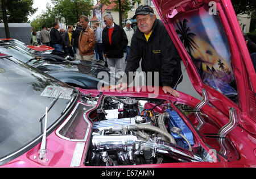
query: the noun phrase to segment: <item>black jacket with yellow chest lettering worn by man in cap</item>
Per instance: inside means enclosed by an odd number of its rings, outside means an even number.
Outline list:
[[[127,59],[125,73],[127,83],[129,72],[135,72],[139,68],[139,61],[142,59],[143,72],[159,72],[159,82],[152,79],[152,86],[171,86],[174,88],[181,76],[180,59],[176,58],[176,48],[172,42],[163,22],[156,19],[152,27],[152,34],[148,42],[144,33],[139,29],[131,39],[130,54]],[[149,77],[147,76],[147,84]],[[182,80],[182,78],[181,78]],[[181,82],[181,80],[179,82]]]

